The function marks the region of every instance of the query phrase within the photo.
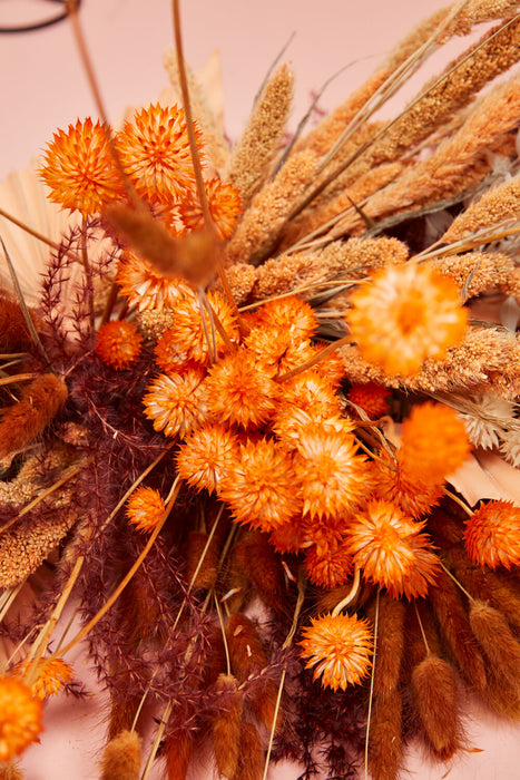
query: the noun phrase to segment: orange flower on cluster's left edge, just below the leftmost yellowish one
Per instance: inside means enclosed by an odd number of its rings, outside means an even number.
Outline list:
[[[237,437],[222,425],[205,425],[180,445],[177,471],[181,479],[213,493],[236,462]]]

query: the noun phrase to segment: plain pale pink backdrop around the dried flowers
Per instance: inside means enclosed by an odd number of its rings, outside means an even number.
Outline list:
[[[0,22],[9,21],[13,4],[36,12],[51,3],[2,0]],[[196,69],[217,48],[222,56],[227,133],[236,138],[255,91],[272,61],[295,31],[286,52],[296,72],[293,126],[308,106],[310,95],[336,70],[342,74],[321,100],[331,108],[376,67],[409,30],[439,0],[189,0],[183,3],[186,57]],[[17,9],[17,12],[18,12]],[[168,0],[84,0],[81,18],[108,107],[116,120],[124,108],[156,99],[167,80],[161,53],[171,45]],[[450,45],[449,56],[460,48]],[[447,58],[443,52],[429,72]],[[86,78],[68,25],[0,40],[1,138],[0,179],[28,165],[52,136],[78,116],[94,114]],[[415,87],[422,82],[415,80]],[[411,94],[409,89],[409,95]],[[403,101],[399,96],[398,101]],[[386,109],[389,113],[390,109]],[[78,674],[88,675],[85,661]],[[90,684],[94,681],[90,680]],[[27,780],[94,780],[102,732],[96,728],[104,712],[96,702],[82,704],[62,698],[46,712],[46,734],[30,749],[22,766]],[[469,752],[453,766],[431,766],[413,752],[405,777],[419,780],[513,780],[520,777],[519,732],[487,713],[472,710],[469,737],[482,752]],[[276,769],[269,778],[295,780],[294,767]],[[198,777],[210,778],[209,768]],[[195,777],[195,776],[194,776]]]

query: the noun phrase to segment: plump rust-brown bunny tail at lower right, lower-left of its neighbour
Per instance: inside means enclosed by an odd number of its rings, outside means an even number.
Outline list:
[[[463,744],[457,675],[448,661],[428,655],[412,672],[419,718],[434,754],[451,759]]]

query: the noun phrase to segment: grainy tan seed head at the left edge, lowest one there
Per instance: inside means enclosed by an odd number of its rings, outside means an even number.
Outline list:
[[[19,528],[0,534],[0,588],[14,587],[36,572],[73,526],[79,509],[32,518]]]

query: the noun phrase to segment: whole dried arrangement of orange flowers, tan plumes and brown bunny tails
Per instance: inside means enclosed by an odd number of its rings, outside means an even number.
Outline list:
[[[183,107],[55,134],[40,177],[78,220],[37,236],[35,301],[6,251],[0,296],[0,777],[78,694],[80,641],[106,780],[184,780],[202,750],[233,780],[284,757],[391,780],[411,737],[467,745],[464,688],[520,719],[519,11],[442,9],[290,142],[282,66],[229,149],[174,2]],[[485,450],[511,487],[475,496]]]

